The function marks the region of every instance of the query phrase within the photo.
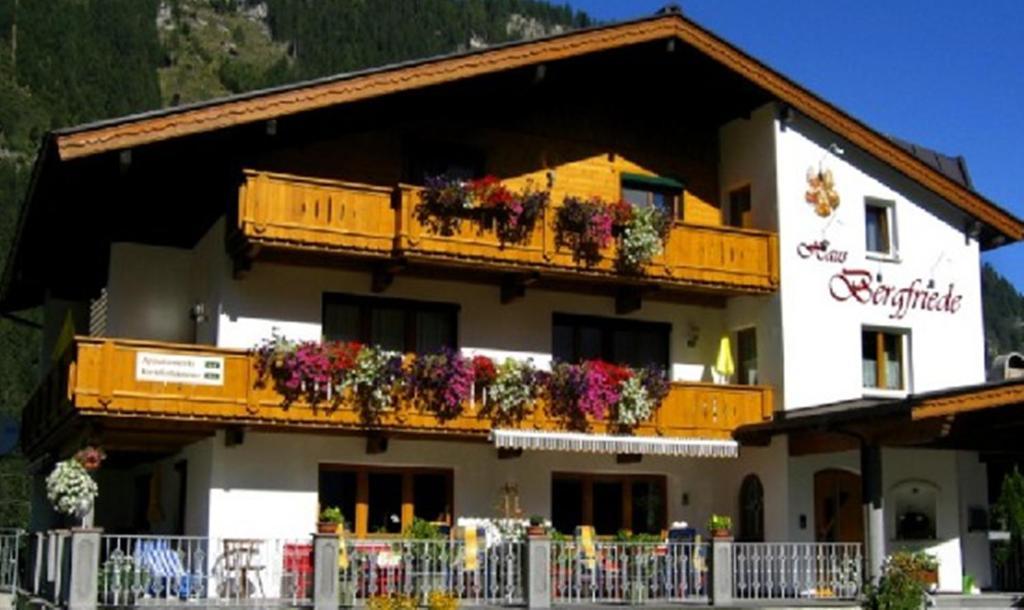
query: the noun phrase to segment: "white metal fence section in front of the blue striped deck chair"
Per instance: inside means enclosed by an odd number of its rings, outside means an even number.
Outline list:
[[[100,606],[312,604],[312,539],[101,537]]]

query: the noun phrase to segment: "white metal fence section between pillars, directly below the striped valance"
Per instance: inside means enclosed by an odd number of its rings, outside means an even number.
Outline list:
[[[556,604],[706,602],[711,548],[698,542],[551,543]]]

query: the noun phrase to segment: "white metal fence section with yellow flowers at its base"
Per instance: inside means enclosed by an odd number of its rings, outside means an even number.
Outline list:
[[[410,596],[425,603],[433,592],[462,605],[518,605],[523,550],[515,540],[346,540],[339,558],[340,603],[354,606],[378,596]]]

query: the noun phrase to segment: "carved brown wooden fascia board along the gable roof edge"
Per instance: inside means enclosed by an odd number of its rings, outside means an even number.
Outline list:
[[[681,13],[337,75],[204,103],[53,132],[60,161],[659,39],[678,39],[764,88],[900,173],[990,226],[1024,238],[1024,221],[864,123],[715,36]]]

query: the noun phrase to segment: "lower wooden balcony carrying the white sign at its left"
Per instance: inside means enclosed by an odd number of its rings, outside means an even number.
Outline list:
[[[199,363],[209,362],[212,377],[201,383],[153,381],[154,375],[144,367],[154,358],[163,356],[205,358]],[[179,361],[163,373],[178,375],[184,369],[185,364]],[[201,369],[199,366],[200,374]],[[640,424],[634,434],[729,439],[738,426],[770,420],[772,407],[770,388],[674,383],[655,417]],[[495,427],[477,405],[466,405],[462,415],[442,421],[432,411],[404,400],[399,400],[379,421],[367,424],[357,409],[344,402],[318,406],[303,402],[286,404],[272,386],[262,387],[258,383],[255,358],[247,351],[84,337],[76,339],[26,407],[23,440],[27,450],[38,452],[43,444],[51,444],[47,439],[76,418],[144,421],[150,428],[173,428],[171,422],[178,422],[207,429],[246,425],[470,439],[485,439]],[[544,404],[539,404],[518,424],[523,430],[551,431],[563,427],[563,422],[550,416]],[[602,422],[592,422],[591,432],[606,433],[607,429]]]

